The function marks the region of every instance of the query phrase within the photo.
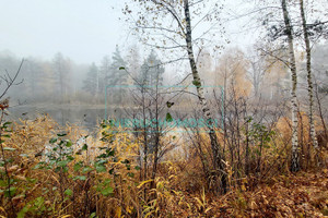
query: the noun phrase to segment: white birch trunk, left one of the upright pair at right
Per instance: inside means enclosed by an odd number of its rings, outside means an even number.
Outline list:
[[[295,63],[295,53],[294,53],[294,37],[293,37],[293,28],[291,26],[291,21],[289,17],[289,11],[286,7],[286,0],[281,1],[283,20],[285,25],[285,34],[288,36],[289,43],[289,65],[292,72],[292,165],[291,171],[297,172],[300,170],[300,152],[298,152],[298,138],[297,138],[297,96],[296,96],[296,87],[297,87],[297,74],[296,74],[296,63]]]

